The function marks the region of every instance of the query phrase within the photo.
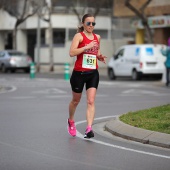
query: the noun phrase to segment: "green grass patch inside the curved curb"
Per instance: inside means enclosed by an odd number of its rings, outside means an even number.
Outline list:
[[[170,104],[128,112],[120,120],[134,127],[170,134]]]

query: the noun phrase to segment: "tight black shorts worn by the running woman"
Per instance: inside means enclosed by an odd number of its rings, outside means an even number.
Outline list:
[[[84,72],[73,70],[70,84],[72,91],[75,93],[82,93],[84,84],[86,85],[86,90],[91,87],[97,89],[99,84],[99,72],[98,70]]]

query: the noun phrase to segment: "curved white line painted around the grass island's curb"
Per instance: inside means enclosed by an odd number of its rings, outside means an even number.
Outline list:
[[[116,117],[116,116],[100,117],[100,118],[96,118],[95,120],[107,119],[107,118],[111,118],[111,117],[113,118],[113,117]],[[79,122],[76,123],[76,125],[81,124],[81,123],[85,123],[85,122],[86,122],[86,120],[79,121]],[[166,155],[155,154],[155,153],[152,153],[152,152],[144,152],[144,151],[141,151],[141,150],[126,148],[126,147],[123,147],[123,146],[118,146],[118,145],[113,145],[113,144],[110,144],[110,143],[102,142],[102,141],[99,141],[99,140],[96,140],[96,139],[84,139],[84,135],[81,134],[79,131],[77,131],[77,137],[79,137],[83,140],[90,140],[92,142],[95,142],[95,143],[98,143],[98,144],[101,144],[101,145],[110,146],[110,147],[121,149],[121,150],[126,150],[126,151],[136,152],[136,153],[140,153],[140,154],[170,159],[170,156],[166,156]]]

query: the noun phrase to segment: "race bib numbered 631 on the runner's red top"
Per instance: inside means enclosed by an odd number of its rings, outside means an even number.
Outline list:
[[[84,54],[82,68],[96,69],[96,55]]]

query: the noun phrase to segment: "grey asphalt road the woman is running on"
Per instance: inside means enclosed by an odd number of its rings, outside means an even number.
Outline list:
[[[169,170],[170,150],[114,137],[104,131],[111,117],[167,104],[170,88],[159,81],[101,77],[95,137],[83,138],[86,97],[76,112],[77,137],[67,133],[69,81],[63,75],[0,74],[0,170]]]

